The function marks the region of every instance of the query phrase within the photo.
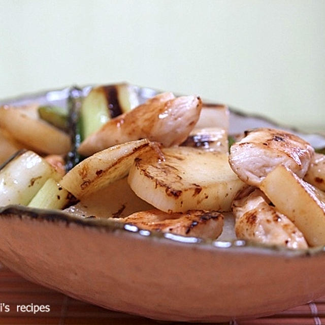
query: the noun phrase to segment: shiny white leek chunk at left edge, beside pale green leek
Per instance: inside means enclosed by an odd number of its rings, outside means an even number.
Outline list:
[[[45,159],[20,151],[0,170],[0,206],[27,205],[48,178],[61,177]]]

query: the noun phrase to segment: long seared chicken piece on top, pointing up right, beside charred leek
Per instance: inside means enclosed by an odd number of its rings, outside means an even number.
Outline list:
[[[99,131],[86,138],[78,151],[89,156],[116,144],[145,138],[160,142],[165,147],[179,145],[197,123],[201,109],[199,97],[175,98],[171,92],[159,94],[109,120]]]

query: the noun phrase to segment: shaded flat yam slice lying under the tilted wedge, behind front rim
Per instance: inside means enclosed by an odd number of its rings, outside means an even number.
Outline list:
[[[153,207],[136,196],[124,177],[83,197],[65,211],[79,217],[117,218],[149,209]]]

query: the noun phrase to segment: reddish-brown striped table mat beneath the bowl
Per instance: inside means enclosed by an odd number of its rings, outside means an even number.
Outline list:
[[[42,310],[36,312],[37,308]],[[0,324],[176,325],[181,323],[158,322],[93,306],[31,283],[7,268],[0,267]],[[325,324],[325,297],[271,317],[232,321],[227,324]]]

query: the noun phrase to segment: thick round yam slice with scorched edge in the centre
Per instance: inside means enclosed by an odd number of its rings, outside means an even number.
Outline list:
[[[165,212],[230,211],[245,187],[228,163],[228,155],[189,147],[161,149],[163,155],[141,154],[128,182],[136,194]]]

